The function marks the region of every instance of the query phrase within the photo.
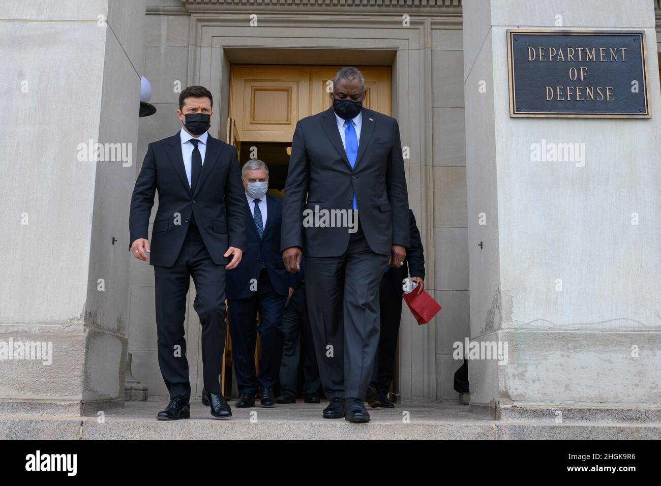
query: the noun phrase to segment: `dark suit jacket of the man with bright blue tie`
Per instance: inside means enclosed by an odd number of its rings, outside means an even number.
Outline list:
[[[332,108],[296,125],[285,185],[281,249],[308,257],[338,257],[349,243],[346,227],[303,227],[303,210],[353,207],[369,247],[390,255],[408,247],[408,194],[397,120],[363,108],[358,155],[351,169]],[[305,197],[307,195],[307,204]]]

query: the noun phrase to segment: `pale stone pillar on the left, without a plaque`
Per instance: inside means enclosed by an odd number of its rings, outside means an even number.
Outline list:
[[[123,405],[144,16],[130,0],[0,13],[0,413]]]

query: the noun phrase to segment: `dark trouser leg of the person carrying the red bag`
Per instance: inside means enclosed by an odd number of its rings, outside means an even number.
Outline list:
[[[383,274],[379,284],[379,308],[381,311],[381,334],[379,349],[374,360],[374,370],[371,382],[379,393],[388,393],[393,381],[393,366],[397,337],[399,337],[399,322],[402,316],[401,282],[395,282],[395,272],[388,270]]]

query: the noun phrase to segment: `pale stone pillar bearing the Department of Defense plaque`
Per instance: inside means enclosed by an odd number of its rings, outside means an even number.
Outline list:
[[[502,418],[658,420],[653,3],[465,0],[463,21],[471,343],[508,343],[506,365],[469,360],[471,407]],[[508,28],[644,30],[652,118],[510,118]],[[532,161],[543,140],[584,143],[585,165]]]

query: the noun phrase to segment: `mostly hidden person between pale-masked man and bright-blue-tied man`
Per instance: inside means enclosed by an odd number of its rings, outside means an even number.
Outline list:
[[[319,400],[321,380],[305,298],[304,266],[303,259],[301,259],[301,269],[296,273],[288,274],[290,298],[282,313],[284,344],[280,363],[280,396],[276,399],[278,403],[296,403],[301,349],[303,350],[303,401],[305,403],[321,402]]]

